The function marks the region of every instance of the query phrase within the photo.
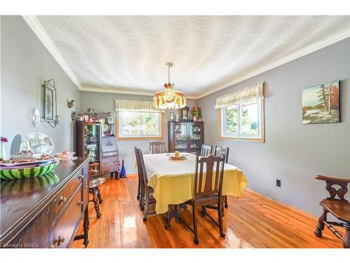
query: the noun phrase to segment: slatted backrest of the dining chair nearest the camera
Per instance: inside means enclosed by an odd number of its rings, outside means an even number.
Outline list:
[[[222,164],[222,165],[221,165]],[[206,166],[204,175],[204,165]],[[199,169],[198,169],[199,166]],[[195,196],[207,196],[221,194],[223,187],[224,158],[209,155],[208,157],[196,157],[195,177],[193,181],[193,193]],[[214,174],[215,170],[215,174]],[[215,180],[213,182],[213,180]],[[204,189],[203,189],[204,183]]]

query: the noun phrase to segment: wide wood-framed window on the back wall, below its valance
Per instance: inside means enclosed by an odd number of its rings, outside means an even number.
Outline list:
[[[119,140],[162,139],[163,116],[160,112],[119,112]]]

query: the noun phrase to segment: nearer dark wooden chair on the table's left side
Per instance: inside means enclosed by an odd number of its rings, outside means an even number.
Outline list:
[[[141,194],[141,200],[142,200],[142,205],[141,208],[144,210],[144,222],[147,220],[147,215],[154,214],[154,213],[148,213],[148,208],[150,203],[155,203],[155,198],[153,198],[153,188],[148,187],[148,178],[147,178],[147,172],[146,172],[146,167],[145,167],[145,162],[144,162],[144,154],[142,154],[141,149],[137,149],[138,155],[139,155],[139,162],[141,166],[141,175],[142,175],[142,191],[143,193]]]

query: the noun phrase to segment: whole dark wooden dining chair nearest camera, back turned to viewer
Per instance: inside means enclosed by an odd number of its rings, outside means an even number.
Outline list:
[[[206,166],[205,173],[204,166]],[[208,216],[219,228],[220,236],[225,237],[223,233],[223,169],[223,157],[213,155],[209,155],[208,157],[196,156],[193,198],[185,202],[193,208],[193,229],[179,215],[180,222],[195,235],[195,244],[199,243],[197,234],[197,208],[199,207],[202,208],[202,216]],[[207,213],[207,208],[218,211],[218,222]]]

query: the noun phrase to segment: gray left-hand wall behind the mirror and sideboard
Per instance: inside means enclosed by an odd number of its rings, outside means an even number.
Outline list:
[[[57,113],[61,123],[56,128],[29,127],[30,107],[41,111],[41,83],[55,79]],[[29,133],[45,133],[55,144],[53,153],[73,150],[74,135],[71,111],[66,100],[76,100],[80,109],[78,88],[64,73],[52,55],[20,16],[1,16],[1,136],[7,137],[7,155],[19,151],[20,140]]]

